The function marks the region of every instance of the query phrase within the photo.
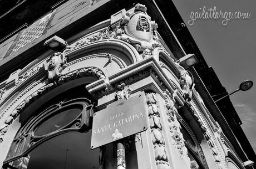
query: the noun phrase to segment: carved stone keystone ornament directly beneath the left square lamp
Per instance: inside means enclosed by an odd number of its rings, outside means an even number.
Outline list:
[[[66,68],[67,59],[61,52],[53,53],[43,65],[48,71],[48,80],[53,81],[61,76],[61,71]]]

